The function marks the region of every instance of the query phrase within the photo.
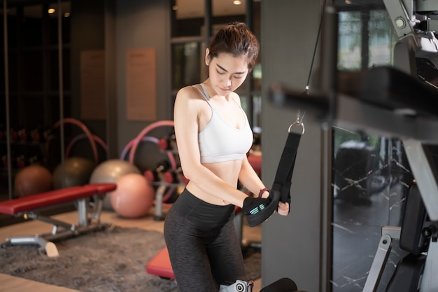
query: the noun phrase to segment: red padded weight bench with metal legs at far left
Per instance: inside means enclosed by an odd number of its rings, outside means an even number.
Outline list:
[[[108,224],[100,222],[100,214],[106,193],[115,190],[115,188],[117,188],[115,183],[92,183],[0,202],[0,213],[16,217],[22,216],[25,219],[39,220],[53,225],[51,233],[8,237],[5,242],[1,243],[1,246],[36,244],[48,256],[59,256],[57,247],[52,241],[80,235],[92,230],[104,230],[108,227]],[[91,198],[92,200],[90,200]],[[77,225],[40,214],[41,209],[45,207],[75,201],[78,209]]]

